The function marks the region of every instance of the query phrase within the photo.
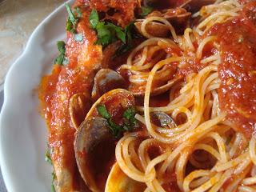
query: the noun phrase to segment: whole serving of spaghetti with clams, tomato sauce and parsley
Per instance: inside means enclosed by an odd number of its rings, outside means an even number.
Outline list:
[[[256,2],[77,0],[39,99],[54,191],[256,191]]]

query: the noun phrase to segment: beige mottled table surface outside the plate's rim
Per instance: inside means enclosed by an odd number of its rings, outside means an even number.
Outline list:
[[[0,86],[34,28],[65,0],[6,0],[0,4]],[[0,170],[0,192],[6,192]]]

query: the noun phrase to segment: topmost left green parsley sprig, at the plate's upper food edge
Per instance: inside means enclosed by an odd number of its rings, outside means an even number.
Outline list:
[[[68,13],[68,18],[66,21],[66,30],[70,31],[72,34],[75,34],[78,25],[78,20],[82,17],[82,12],[79,9],[79,7],[75,7],[74,10],[71,10],[68,4],[65,3],[65,6]]]

